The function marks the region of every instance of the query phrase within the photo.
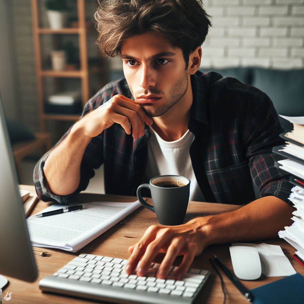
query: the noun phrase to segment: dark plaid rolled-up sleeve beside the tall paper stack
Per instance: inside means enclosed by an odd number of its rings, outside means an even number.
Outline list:
[[[273,195],[290,205],[288,200],[293,185],[290,174],[275,167],[275,161],[285,159],[272,152],[272,148],[284,144],[279,134],[284,130],[271,99],[263,92],[256,96],[246,113],[243,143],[249,159],[251,176],[260,191],[260,197]]]

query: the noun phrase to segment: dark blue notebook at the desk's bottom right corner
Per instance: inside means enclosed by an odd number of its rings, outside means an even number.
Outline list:
[[[304,277],[296,273],[250,290],[254,304],[303,304]]]

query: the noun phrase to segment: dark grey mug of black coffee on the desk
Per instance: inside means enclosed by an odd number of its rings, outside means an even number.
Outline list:
[[[165,188],[155,186],[161,181],[178,181],[185,186]],[[147,204],[141,196],[141,189],[151,191],[153,206]],[[156,213],[162,225],[180,225],[183,223],[188,207],[190,194],[190,180],[180,175],[160,175],[150,179],[149,184],[142,184],[137,188],[137,198],[147,209]]]

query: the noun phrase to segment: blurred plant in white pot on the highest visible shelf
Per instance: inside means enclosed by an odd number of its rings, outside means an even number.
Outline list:
[[[66,0],[46,0],[47,18],[51,29],[61,29],[66,25],[67,1]]]

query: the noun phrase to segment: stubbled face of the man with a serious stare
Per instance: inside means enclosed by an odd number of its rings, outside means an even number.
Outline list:
[[[165,52],[172,54],[160,54]],[[182,51],[163,37],[151,33],[132,36],[124,41],[121,54],[130,91],[148,116],[163,115],[187,92],[190,75]],[[161,98],[149,102],[139,98],[148,95]]]

